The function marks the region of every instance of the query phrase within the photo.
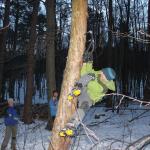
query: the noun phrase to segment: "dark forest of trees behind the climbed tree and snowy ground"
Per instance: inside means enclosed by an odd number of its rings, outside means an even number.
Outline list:
[[[70,40],[69,0],[0,2],[0,95],[20,101],[31,116],[32,97],[60,91]],[[117,92],[150,98],[150,1],[88,0],[87,32],[94,39],[94,69],[117,72]],[[86,49],[91,42],[87,34]],[[76,58],[78,59],[78,58]],[[30,115],[29,115],[30,114]],[[31,122],[30,117],[25,117]]]

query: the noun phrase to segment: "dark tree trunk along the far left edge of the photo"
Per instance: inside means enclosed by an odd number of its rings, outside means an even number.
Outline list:
[[[10,0],[6,0],[3,27],[9,24],[9,13],[10,13]],[[6,35],[7,35],[7,28],[0,32],[0,100],[1,100],[1,95],[2,95],[3,68],[4,68],[4,60],[5,60],[4,58],[5,49],[6,49]]]

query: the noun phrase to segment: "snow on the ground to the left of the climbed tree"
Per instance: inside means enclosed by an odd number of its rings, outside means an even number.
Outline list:
[[[0,144],[4,138],[5,125],[3,119],[0,119]],[[45,129],[46,122],[35,120],[31,125],[25,125],[23,122],[18,124],[17,150],[46,150],[49,145],[50,131]],[[10,143],[8,145],[8,150]]]

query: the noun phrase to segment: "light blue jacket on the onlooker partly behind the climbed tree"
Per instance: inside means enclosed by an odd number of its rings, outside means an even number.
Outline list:
[[[57,113],[57,105],[58,105],[58,100],[53,100],[52,98],[49,101],[49,108],[50,108],[50,114],[52,117],[56,116]]]

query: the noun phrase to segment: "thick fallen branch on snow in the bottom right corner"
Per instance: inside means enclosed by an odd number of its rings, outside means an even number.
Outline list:
[[[150,144],[150,135],[146,135],[134,143],[131,143],[125,150],[142,150],[142,148],[148,144]]]

